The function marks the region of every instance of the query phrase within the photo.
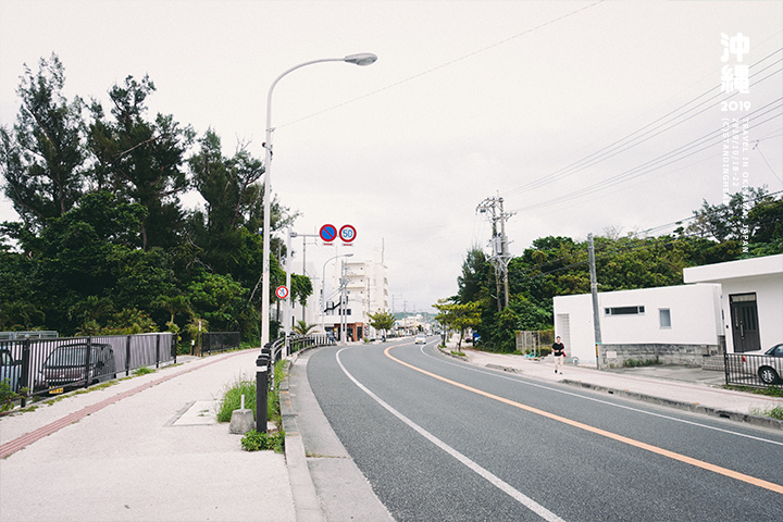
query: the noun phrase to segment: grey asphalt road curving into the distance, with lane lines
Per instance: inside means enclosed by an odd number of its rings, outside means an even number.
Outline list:
[[[470,366],[434,341],[308,363],[397,521],[780,520],[780,432]]]

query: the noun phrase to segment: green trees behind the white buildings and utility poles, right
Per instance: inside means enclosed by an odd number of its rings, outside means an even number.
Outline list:
[[[734,194],[726,202],[693,211],[671,234],[625,235],[608,227],[596,235],[596,272],[601,291],[683,284],[687,266],[783,252],[783,199],[767,188]],[[513,352],[517,331],[548,331],[555,296],[589,294],[586,239],[535,239],[508,263],[508,307],[504,284],[480,246],[468,250],[457,294],[433,304],[446,328],[471,328],[477,349]]]

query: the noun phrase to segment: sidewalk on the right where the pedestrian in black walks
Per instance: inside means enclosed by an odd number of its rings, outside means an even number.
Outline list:
[[[442,349],[447,355],[457,348],[456,343],[448,343],[447,346],[447,349]],[[535,361],[521,356],[490,353],[464,346],[462,352],[467,358],[452,357],[477,366],[514,372],[544,382],[570,384],[614,396],[783,430],[782,421],[753,413],[756,410],[766,411],[783,406],[783,398],[723,389],[720,387],[724,384],[722,372],[667,365],[604,371],[566,364],[562,374],[556,374],[551,357]]]

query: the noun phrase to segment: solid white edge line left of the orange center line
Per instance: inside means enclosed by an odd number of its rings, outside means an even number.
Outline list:
[[[413,422],[410,419],[408,419],[407,417],[405,417],[402,413],[400,413],[395,408],[393,408],[389,403],[384,401],[381,397],[378,397],[377,395],[372,393],[366,386],[364,386],[359,381],[357,381],[357,378],[353,375],[351,375],[348,372],[348,370],[346,370],[346,368],[343,365],[343,361],[340,360],[340,353],[343,351],[345,351],[346,349],[347,348],[343,348],[341,350],[337,351],[337,364],[339,364],[340,369],[348,376],[348,378],[350,378],[353,382],[353,384],[356,384],[359,387],[359,389],[361,389],[362,391],[368,394],[370,397],[372,397],[372,399],[375,402],[383,406],[386,410],[388,410],[389,413],[391,413],[397,419],[399,419],[400,421],[408,424],[411,428],[413,428],[421,436],[423,436],[424,438],[426,438],[427,440],[433,443],[435,446],[443,449],[448,455],[450,455],[451,457],[453,457],[455,459],[457,459],[458,461],[460,461],[461,463],[463,463],[464,465],[470,468],[472,471],[474,471],[475,473],[477,473],[478,475],[481,475],[482,477],[487,480],[495,487],[497,487],[501,492],[506,493],[507,495],[511,496],[514,500],[522,504],[524,507],[526,507],[534,513],[538,514],[542,519],[550,521],[550,522],[566,522],[563,519],[561,519],[557,514],[552,513],[551,511],[546,509],[540,504],[536,502],[529,496],[524,495],[522,492],[514,488],[513,486],[511,486],[509,483],[505,482],[500,477],[492,474],[489,471],[485,470],[484,468],[482,468],[481,465],[478,465],[477,463],[475,463],[474,461],[472,461],[464,455],[462,455],[459,451],[457,451],[456,449],[453,449],[451,446],[447,445],[446,443],[444,443],[443,440],[437,438],[432,433],[430,433],[426,430],[424,430],[423,427],[421,427],[415,422]]]

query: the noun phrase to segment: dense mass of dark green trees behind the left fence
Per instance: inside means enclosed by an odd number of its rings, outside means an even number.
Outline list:
[[[262,160],[245,142],[225,156],[213,129],[150,113],[147,76],[83,94],[108,91],[103,107],[66,99],[57,54],[34,65],[18,71],[16,122],[0,126],[0,187],[20,215],[0,223],[0,331],[170,331],[181,353],[199,332],[239,332],[258,346]],[[186,210],[187,191],[207,203]],[[296,215],[275,199],[273,231]],[[285,241],[271,251],[284,258]],[[271,278],[285,283],[275,256]],[[311,294],[291,274],[291,297]]]

